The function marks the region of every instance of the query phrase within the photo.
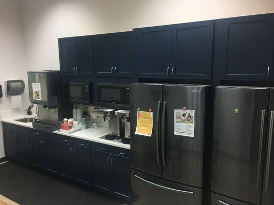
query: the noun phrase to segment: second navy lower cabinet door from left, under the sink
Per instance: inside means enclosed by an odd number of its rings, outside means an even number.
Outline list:
[[[16,134],[18,140],[19,159],[30,163],[31,162],[31,149],[29,136]]]

